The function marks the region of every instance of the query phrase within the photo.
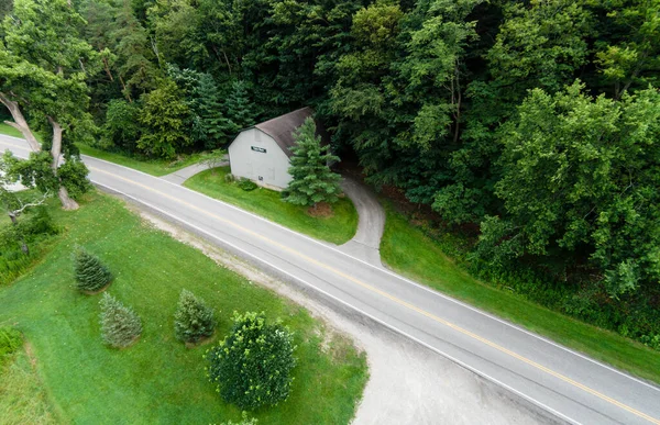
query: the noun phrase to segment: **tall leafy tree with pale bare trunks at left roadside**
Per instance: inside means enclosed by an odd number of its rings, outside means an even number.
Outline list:
[[[0,102],[12,114],[13,122],[9,124],[21,131],[34,152],[41,152],[42,146],[23,110],[38,125],[50,125],[54,176],[50,180],[56,183],[65,209],[78,205],[58,175],[59,157],[64,152],[67,160],[75,161],[73,142],[87,136],[94,127],[86,112],[89,98],[85,80],[100,69],[92,47],[80,38],[82,23],[66,0],[18,0],[2,23],[0,45]]]

